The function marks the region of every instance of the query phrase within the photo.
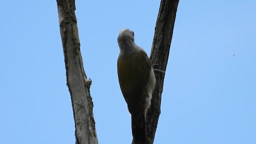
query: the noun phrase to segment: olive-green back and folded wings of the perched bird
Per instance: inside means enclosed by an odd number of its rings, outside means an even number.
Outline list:
[[[144,51],[118,57],[118,79],[129,112],[139,116],[146,97],[151,66]]]

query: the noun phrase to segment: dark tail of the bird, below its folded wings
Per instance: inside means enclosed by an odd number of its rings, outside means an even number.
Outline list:
[[[147,138],[145,115],[132,116],[132,144],[144,144]]]

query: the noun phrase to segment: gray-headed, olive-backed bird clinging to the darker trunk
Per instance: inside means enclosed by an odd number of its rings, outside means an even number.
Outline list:
[[[124,28],[118,34],[120,53],[118,80],[131,114],[133,144],[146,142],[146,114],[151,104],[156,78],[145,50],[134,42],[134,32]]]

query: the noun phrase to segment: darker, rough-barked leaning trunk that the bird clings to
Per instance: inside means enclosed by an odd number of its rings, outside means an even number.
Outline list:
[[[155,71],[156,87],[152,95],[151,106],[146,116],[146,144],[153,144],[154,142],[156,127],[161,113],[160,106],[164,86],[164,76],[170,52],[178,2],[179,0],[161,0],[158,18],[156,20],[150,60],[154,69],[157,69],[158,71]]]

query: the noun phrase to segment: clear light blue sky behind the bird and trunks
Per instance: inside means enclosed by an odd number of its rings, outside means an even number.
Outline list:
[[[56,0],[0,6],[0,144],[74,144]],[[117,36],[134,30],[149,54],[159,6],[76,0],[100,144],[131,144]],[[256,144],[255,66],[255,0],[180,0],[154,144]]]

